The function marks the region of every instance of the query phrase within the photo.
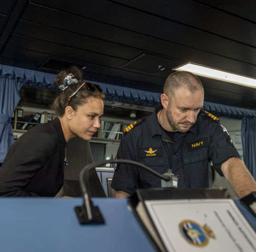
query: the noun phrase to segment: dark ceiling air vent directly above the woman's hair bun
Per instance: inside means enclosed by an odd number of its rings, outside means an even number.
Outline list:
[[[40,69],[53,71],[53,72],[60,72],[61,70],[68,69],[69,67],[77,66],[80,68],[85,67],[84,65],[68,62],[60,59],[48,58],[45,62],[41,65]]]

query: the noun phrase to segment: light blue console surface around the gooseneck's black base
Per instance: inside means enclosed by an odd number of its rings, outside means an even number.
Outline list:
[[[93,199],[103,225],[80,225],[74,207],[81,204],[80,198],[0,199],[0,251],[155,251],[125,199]]]

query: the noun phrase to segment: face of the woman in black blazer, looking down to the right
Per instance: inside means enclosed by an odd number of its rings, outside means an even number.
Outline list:
[[[71,138],[78,136],[84,140],[91,140],[93,134],[101,126],[100,118],[103,115],[103,101],[99,98],[89,98],[83,106],[73,111],[69,120]]]

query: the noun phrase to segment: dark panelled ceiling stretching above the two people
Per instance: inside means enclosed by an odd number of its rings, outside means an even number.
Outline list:
[[[0,0],[0,63],[161,93],[193,62],[256,78],[255,0]],[[161,67],[160,67],[161,66]],[[160,68],[165,68],[163,71]],[[256,89],[199,77],[205,101],[256,109]],[[32,94],[29,96],[29,94]],[[53,91],[21,90],[46,103]],[[34,99],[33,99],[34,97]]]

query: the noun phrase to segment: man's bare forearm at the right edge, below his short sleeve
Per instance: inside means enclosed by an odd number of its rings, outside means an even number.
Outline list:
[[[229,158],[221,165],[221,171],[237,197],[242,198],[256,191],[254,178],[239,158]]]

